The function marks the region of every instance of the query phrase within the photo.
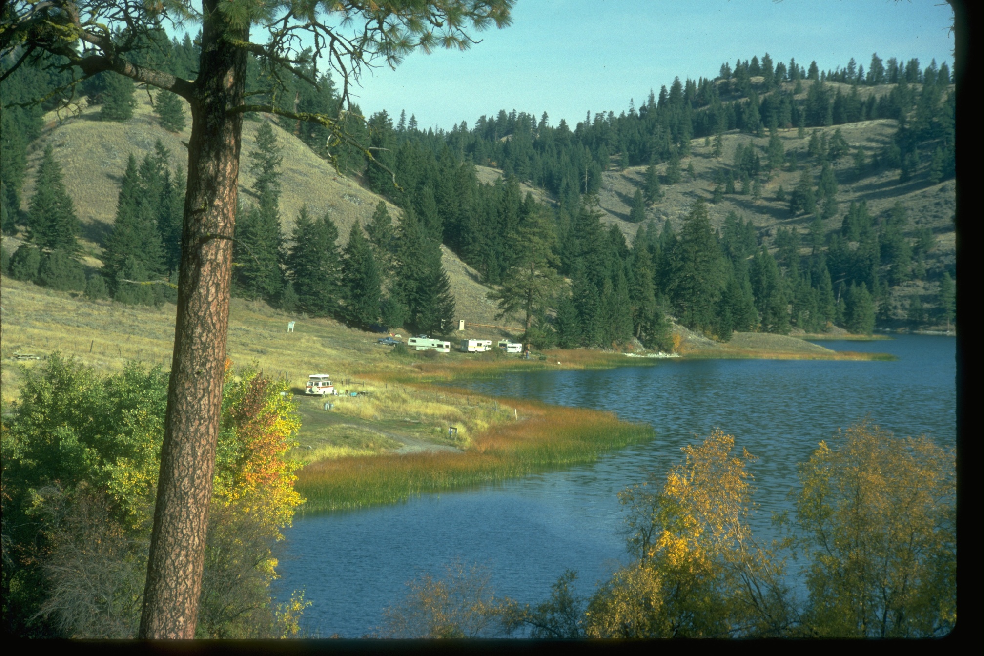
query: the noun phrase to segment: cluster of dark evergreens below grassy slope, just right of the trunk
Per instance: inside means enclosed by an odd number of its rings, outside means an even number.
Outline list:
[[[249,152],[258,203],[240,209],[236,220],[234,292],[362,328],[450,330],[455,298],[440,239],[413,207],[403,209],[395,227],[380,202],[365,228],[352,225],[339,250],[331,215],[313,217],[304,206],[286,240],[278,209],[279,151],[270,123],[264,123]]]

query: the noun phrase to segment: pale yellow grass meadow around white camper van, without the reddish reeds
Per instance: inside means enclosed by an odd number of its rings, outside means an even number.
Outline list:
[[[60,350],[102,372],[119,371],[129,360],[170,367],[174,306],[126,306],[110,301],[92,302],[78,294],[56,292],[30,282],[4,278],[0,375],[3,399],[17,397],[21,363],[15,353],[45,355]],[[399,447],[403,438],[444,444],[449,425],[459,427],[458,443],[486,430],[496,418],[495,402],[474,394],[456,394],[443,388],[418,388],[391,382],[419,381],[418,363],[452,363],[470,355],[454,353],[435,360],[415,352],[405,358],[390,347],[376,344],[376,333],[346,328],[327,319],[296,319],[286,332],[288,317],[264,303],[233,299],[228,333],[228,357],[236,363],[255,362],[266,374],[285,378],[296,393],[303,393],[310,374],[328,373],[339,392],[369,392],[357,397],[335,396],[325,421],[325,399],[302,396],[304,418],[299,438],[312,447],[300,453],[305,460],[352,453],[379,452]],[[31,367],[31,362],[23,366]],[[364,375],[373,372],[374,376]],[[338,421],[357,426],[337,426]],[[373,434],[378,440],[354,443],[353,433]],[[456,443],[456,444],[458,444]]]

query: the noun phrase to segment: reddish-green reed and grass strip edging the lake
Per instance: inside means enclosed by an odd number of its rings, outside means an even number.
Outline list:
[[[773,337],[769,337],[773,338]],[[774,338],[773,338],[774,339]],[[783,339],[797,339],[783,337]],[[798,340],[797,341],[801,341]],[[804,344],[808,342],[802,342]],[[726,346],[726,345],[724,345]],[[690,347],[677,357],[639,357],[638,354],[571,349],[544,351],[543,359],[472,357],[467,360],[418,359],[408,363],[410,370],[372,371],[356,374],[363,386],[379,389],[415,390],[415,402],[443,403],[440,417],[433,417],[437,433],[431,439],[410,438],[416,444],[410,452],[400,448],[376,453],[347,454],[308,462],[297,471],[297,491],[305,497],[299,515],[373,507],[405,502],[411,497],[441,491],[460,490],[484,483],[519,478],[530,473],[563,468],[597,460],[603,453],[651,440],[654,429],[623,422],[600,410],[551,405],[537,401],[490,396],[430,384],[495,378],[508,372],[573,371],[654,365],[674,359],[801,359],[801,360],[893,360],[886,353],[831,351],[817,345],[800,351],[764,349]],[[627,357],[630,356],[630,357]],[[635,356],[635,357],[631,357]],[[375,393],[375,392],[372,392]],[[429,397],[433,396],[433,401]],[[462,403],[463,399],[463,403]],[[464,405],[467,412],[484,408],[492,413],[489,425],[464,443],[449,448],[440,437],[443,426],[453,422],[448,408]],[[379,422],[393,417],[375,415]],[[443,421],[439,421],[443,420]],[[418,422],[419,423],[419,422]],[[457,435],[457,433],[456,433]],[[392,437],[400,440],[400,436]],[[409,436],[407,436],[409,437]],[[449,438],[450,439],[450,438]],[[406,443],[403,443],[404,445]],[[431,444],[432,448],[420,448]]]

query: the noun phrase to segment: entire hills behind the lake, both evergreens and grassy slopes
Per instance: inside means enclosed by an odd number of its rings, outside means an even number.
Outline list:
[[[194,77],[191,39],[148,52]],[[165,285],[135,282],[176,270],[187,110],[154,93],[152,114],[150,94],[96,76],[76,89],[79,116],[44,131],[45,107],[18,103],[68,82],[52,71],[32,61],[3,83],[3,227],[23,241],[5,267],[162,302]],[[315,89],[252,73],[275,106],[338,111],[327,77]],[[542,347],[668,349],[671,318],[723,340],[949,329],[953,102],[946,63],[874,55],[867,71],[822,72],[767,54],[573,129],[503,110],[421,130],[412,114],[363,123],[352,107],[353,141],[382,166],[316,124],[257,116],[234,290],[362,327],[520,322]],[[454,285],[449,266],[465,273]]]

